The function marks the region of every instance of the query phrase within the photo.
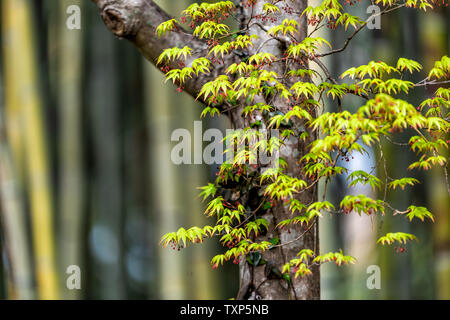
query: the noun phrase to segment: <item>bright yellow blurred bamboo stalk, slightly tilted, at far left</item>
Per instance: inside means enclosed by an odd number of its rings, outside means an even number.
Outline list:
[[[21,152],[25,156],[25,172],[30,210],[36,266],[37,290],[40,299],[58,298],[58,282],[55,267],[53,208],[49,181],[47,146],[44,138],[42,103],[38,91],[36,51],[33,44],[32,2],[27,0],[3,0],[2,22],[4,32],[4,65],[6,82],[6,109],[8,116],[18,117],[23,132]],[[16,125],[17,120],[11,123]],[[17,129],[13,129],[14,130]],[[9,132],[9,129],[8,129]],[[20,134],[8,134],[15,146]],[[14,160],[16,161],[16,159]]]

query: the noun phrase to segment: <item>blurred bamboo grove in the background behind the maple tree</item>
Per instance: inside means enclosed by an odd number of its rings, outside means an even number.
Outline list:
[[[189,4],[157,2],[173,14]],[[209,267],[217,244],[180,252],[158,246],[165,232],[202,224],[196,187],[213,179],[216,168],[170,162],[171,132],[192,132],[202,106],[163,84],[158,70],[106,30],[90,1],[0,3],[0,298],[232,297],[237,268]],[[369,2],[362,3],[354,10],[365,17]],[[81,30],[66,28],[73,4],[82,11]],[[362,32],[328,65],[340,74],[369,59],[404,56],[427,69],[449,52],[449,11],[383,17],[381,30]],[[331,39],[338,46],[344,36]],[[204,121],[204,128],[226,126]],[[413,155],[402,150],[390,145],[385,154],[390,176],[411,162]],[[353,165],[375,163],[377,156]],[[419,188],[388,196],[397,207],[429,206],[435,224],[388,216],[322,220],[321,246],[343,248],[359,261],[322,268],[323,298],[450,299],[449,197],[442,172],[419,177]],[[349,192],[345,183],[337,181],[328,197],[339,201]],[[420,242],[403,254],[376,248],[383,228],[410,231]],[[381,267],[381,290],[366,288],[372,264]],[[81,290],[66,287],[70,265],[81,267]]]

